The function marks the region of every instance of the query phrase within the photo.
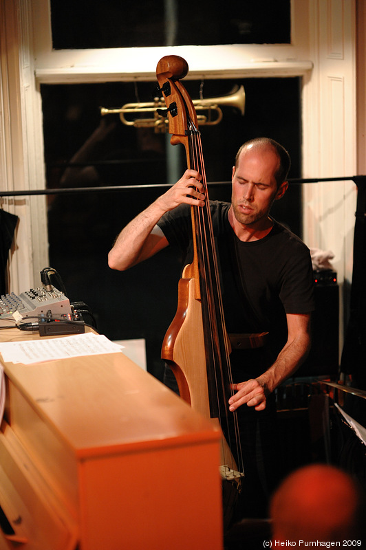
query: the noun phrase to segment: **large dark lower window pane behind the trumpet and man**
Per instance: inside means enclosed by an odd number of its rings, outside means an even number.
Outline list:
[[[288,148],[290,177],[301,175],[301,123],[298,78],[207,80],[204,98],[226,96],[235,85],[246,91],[246,112],[223,107],[217,126],[201,126],[206,175],[230,181],[235,153],[251,137],[266,135]],[[184,83],[191,98],[201,82]],[[139,184],[167,181],[173,150],[170,135],[151,128],[125,126],[118,115],[100,116],[100,106],[150,101],[153,83],[42,85],[47,188],[131,185],[129,190],[47,195],[50,265],[60,274],[70,300],[92,309],[98,330],[111,340],[144,338],[147,364],[160,377],[160,349],[175,314],[180,258],[166,249],[127,272],[110,270],[107,254],[118,232],[162,194],[162,188]],[[141,115],[146,118],[150,114]],[[178,155],[179,156],[179,155]],[[179,159],[178,159],[179,160]],[[179,162],[178,162],[179,164]],[[230,184],[211,186],[211,199],[230,201]],[[273,216],[297,234],[301,228],[299,186],[290,186],[275,203]]]

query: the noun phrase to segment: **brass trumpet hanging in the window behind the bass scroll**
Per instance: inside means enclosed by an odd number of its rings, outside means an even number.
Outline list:
[[[244,86],[236,87],[228,96],[219,98],[196,99],[193,100],[193,105],[196,111],[207,111],[206,114],[197,112],[197,120],[200,126],[219,124],[222,120],[221,107],[235,107],[244,115],[246,94]],[[100,107],[102,116],[111,113],[119,113],[120,120],[126,126],[135,126],[135,128],[151,128],[155,132],[165,132],[168,124],[167,115],[158,113],[158,109],[165,109],[165,102],[162,98],[154,98],[153,102],[125,103],[120,109],[106,109]],[[153,113],[151,118],[126,118],[125,114],[140,115],[141,113]],[[215,113],[213,117],[212,113]]]

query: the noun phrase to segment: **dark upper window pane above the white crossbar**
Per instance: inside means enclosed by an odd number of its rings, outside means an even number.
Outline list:
[[[290,43],[290,0],[52,0],[55,50]]]

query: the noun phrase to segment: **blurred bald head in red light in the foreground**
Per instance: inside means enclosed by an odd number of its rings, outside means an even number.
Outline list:
[[[273,540],[355,538],[359,514],[352,478],[329,465],[306,466],[290,474],[272,498]]]

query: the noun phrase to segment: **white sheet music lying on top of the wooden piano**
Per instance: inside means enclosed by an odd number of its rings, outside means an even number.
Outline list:
[[[56,359],[118,353],[123,346],[92,332],[63,338],[0,343],[3,362],[32,364]]]

